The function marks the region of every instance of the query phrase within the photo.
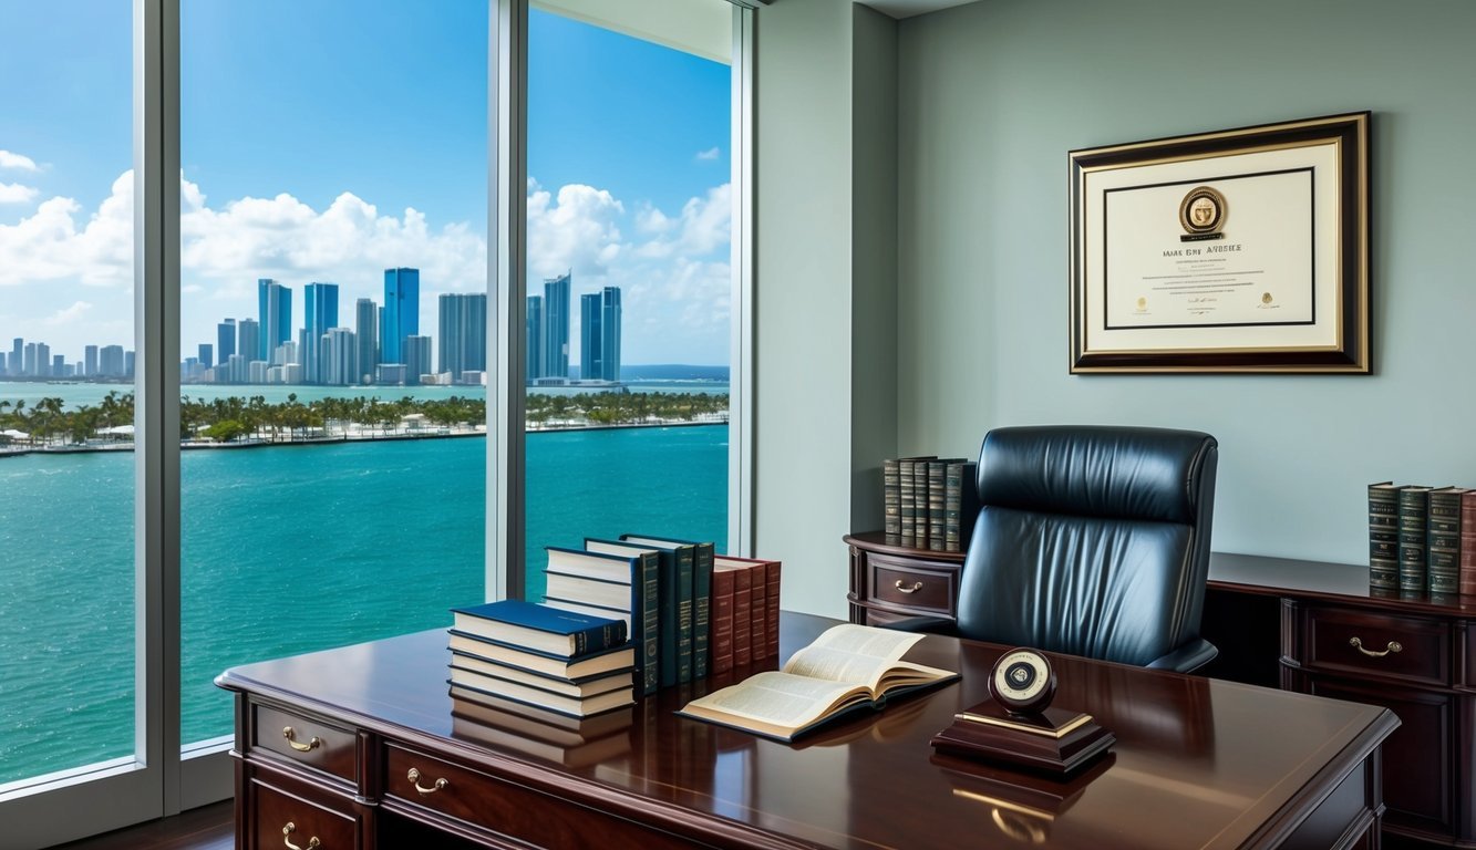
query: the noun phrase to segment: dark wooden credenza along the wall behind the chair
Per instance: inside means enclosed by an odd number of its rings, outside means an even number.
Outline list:
[[[852,621],[955,615],[962,555],[844,540]],[[1371,590],[1367,567],[1215,553],[1201,632],[1219,648],[1206,676],[1392,710],[1384,832],[1476,849],[1476,598],[1401,598]]]

